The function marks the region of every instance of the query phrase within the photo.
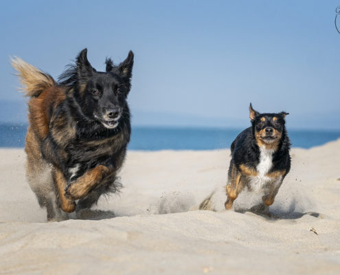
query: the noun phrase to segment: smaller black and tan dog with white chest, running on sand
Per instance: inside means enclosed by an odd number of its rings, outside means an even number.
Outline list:
[[[288,113],[258,113],[251,104],[249,111],[251,127],[231,144],[227,210],[246,186],[249,190],[263,190],[262,210],[268,210],[291,168],[291,142],[284,126]]]

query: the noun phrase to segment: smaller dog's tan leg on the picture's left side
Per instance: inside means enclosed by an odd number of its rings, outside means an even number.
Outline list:
[[[229,171],[229,183],[226,186],[228,197],[227,201],[225,201],[225,209],[229,210],[233,207],[234,200],[244,188],[243,181],[242,174],[236,168],[235,164],[232,164],[231,171]]]

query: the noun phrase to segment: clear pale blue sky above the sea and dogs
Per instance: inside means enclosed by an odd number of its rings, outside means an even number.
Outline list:
[[[133,124],[247,126],[252,102],[292,128],[340,129],[337,5],[2,0],[0,100],[24,101],[9,56],[57,77],[84,47],[98,70],[133,50]]]

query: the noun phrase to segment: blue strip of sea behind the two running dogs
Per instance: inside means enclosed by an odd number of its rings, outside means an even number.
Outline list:
[[[23,148],[26,124],[0,124],[0,147]],[[135,126],[129,150],[212,150],[229,148],[242,129]],[[337,140],[340,131],[289,130],[293,147],[310,148]]]

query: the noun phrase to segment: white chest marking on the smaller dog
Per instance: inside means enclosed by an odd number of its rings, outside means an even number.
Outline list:
[[[265,184],[267,184],[271,179],[266,177],[266,174],[273,167],[273,149],[266,149],[264,146],[260,146],[260,159],[256,170],[258,175],[256,177],[251,177],[251,188],[254,191],[260,191]]]

